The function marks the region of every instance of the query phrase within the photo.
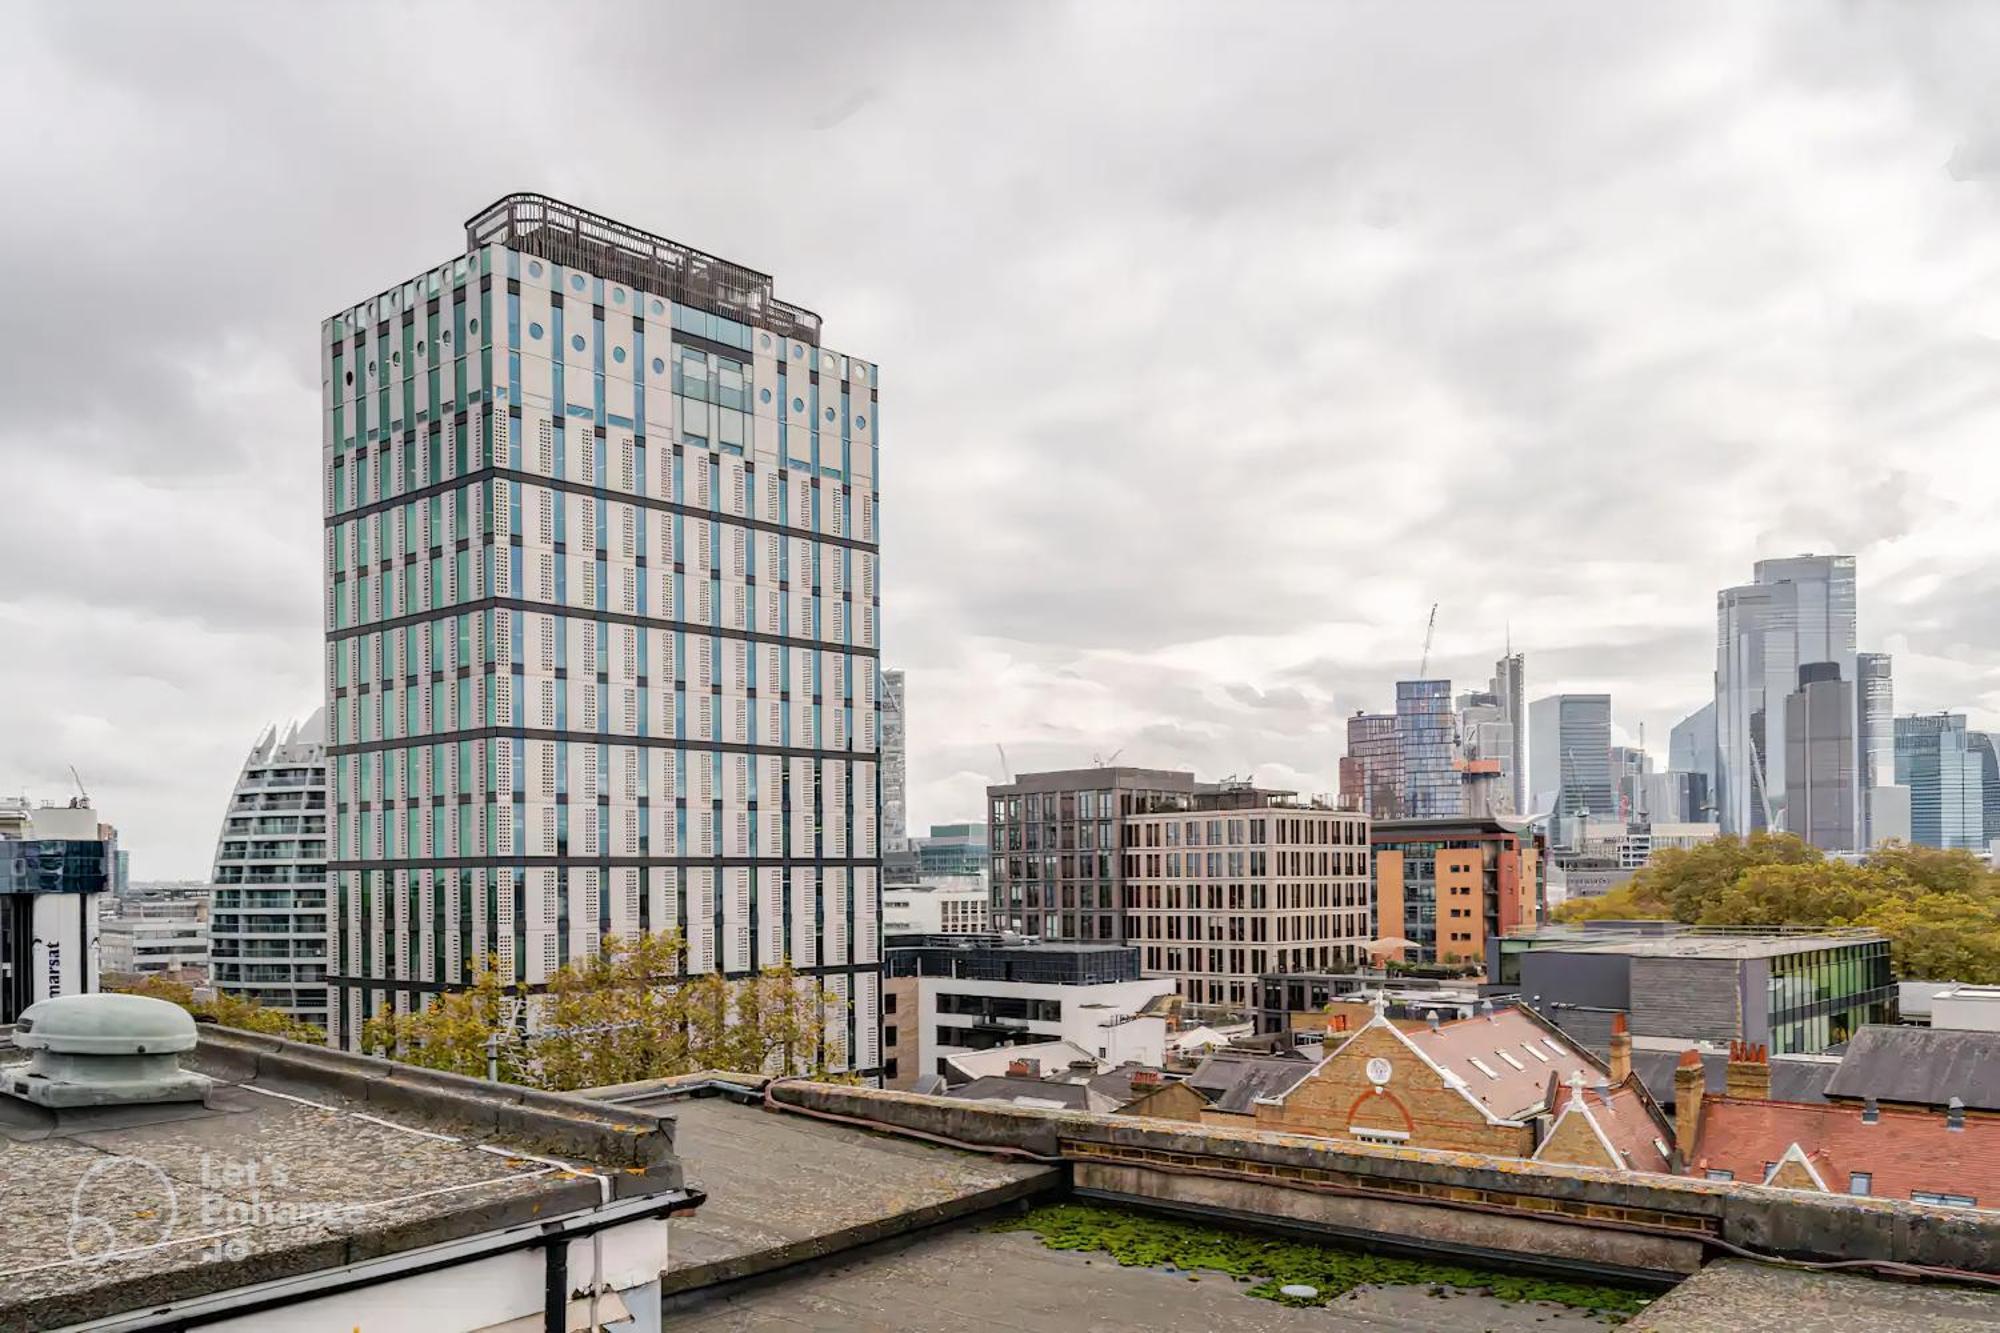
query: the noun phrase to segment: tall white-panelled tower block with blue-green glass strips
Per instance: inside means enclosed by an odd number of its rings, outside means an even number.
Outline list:
[[[876,366],[514,194],[322,330],[332,1033],[606,935],[878,1045]]]

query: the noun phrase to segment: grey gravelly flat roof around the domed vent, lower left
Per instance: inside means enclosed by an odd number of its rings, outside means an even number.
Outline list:
[[[218,1029],[182,1067],[214,1079],[206,1103],[0,1097],[0,1327],[540,1229],[602,1207],[592,1169],[620,1199],[698,1203],[660,1117]]]

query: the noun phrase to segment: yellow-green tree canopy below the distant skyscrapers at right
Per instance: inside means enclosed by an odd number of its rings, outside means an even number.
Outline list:
[[[1872,927],[1896,975],[2000,983],[2000,875],[1968,851],[1892,843],[1862,865],[1786,833],[1666,849],[1628,883],[1556,909],[1556,921]]]

